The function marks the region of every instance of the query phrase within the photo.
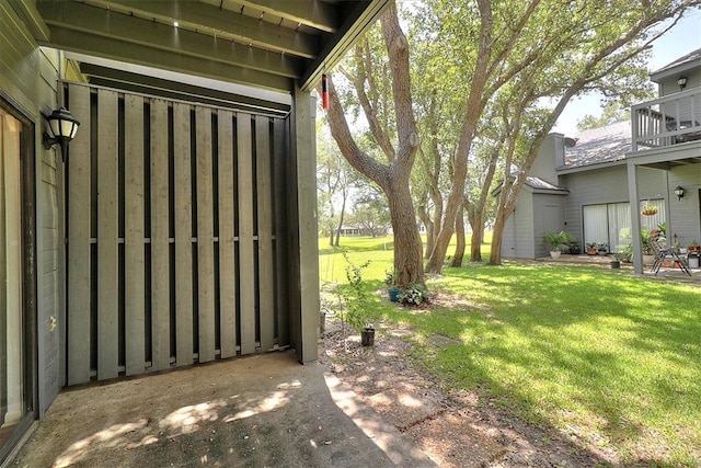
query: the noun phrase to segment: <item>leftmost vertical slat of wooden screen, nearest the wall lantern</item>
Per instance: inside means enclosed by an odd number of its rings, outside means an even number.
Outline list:
[[[68,171],[68,385],[90,380],[90,89],[71,87],[69,107],[80,121],[70,144]]]

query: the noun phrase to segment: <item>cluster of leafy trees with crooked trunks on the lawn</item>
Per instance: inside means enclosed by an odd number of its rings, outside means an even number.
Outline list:
[[[387,194],[395,235],[415,229],[416,215],[427,224],[426,271],[440,272],[463,210],[478,236],[473,258],[493,216],[490,262],[498,264],[506,219],[568,102],[593,91],[623,106],[646,98],[648,45],[662,33],[655,27],[665,19],[671,27],[698,4],[425,0],[405,5],[409,38],[392,5],[344,64],[347,80],[334,87],[329,110],[332,135],[350,164]],[[360,150],[348,129],[345,114],[360,112],[375,153]],[[412,249],[406,271],[417,265],[416,239],[395,244],[400,256]],[[395,258],[397,269],[406,266],[403,259]]]

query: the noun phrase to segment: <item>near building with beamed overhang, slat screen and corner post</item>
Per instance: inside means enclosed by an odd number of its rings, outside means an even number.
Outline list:
[[[0,465],[65,386],[317,358],[311,91],[390,3],[0,2]]]

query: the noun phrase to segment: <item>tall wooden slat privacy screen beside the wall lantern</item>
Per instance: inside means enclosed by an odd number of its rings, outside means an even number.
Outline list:
[[[67,94],[68,384],[287,345],[286,121]]]

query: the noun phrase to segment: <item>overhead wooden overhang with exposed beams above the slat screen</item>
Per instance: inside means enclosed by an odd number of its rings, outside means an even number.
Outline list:
[[[42,46],[291,93],[311,90],[392,1],[37,0],[15,10]],[[89,79],[115,79],[92,65],[81,70]]]

